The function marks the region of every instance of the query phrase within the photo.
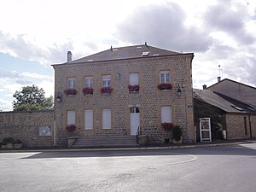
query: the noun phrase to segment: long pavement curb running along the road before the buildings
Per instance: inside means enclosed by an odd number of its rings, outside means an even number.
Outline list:
[[[138,147],[138,148],[49,148],[49,149],[10,149],[1,150],[1,153],[48,153],[48,152],[70,152],[70,151],[119,151],[119,150],[152,150],[152,149],[176,149],[176,148],[208,148],[218,146],[230,146],[246,143],[256,143],[256,140],[243,141],[235,143],[204,143],[204,144],[189,144],[189,145],[172,145],[161,147]]]

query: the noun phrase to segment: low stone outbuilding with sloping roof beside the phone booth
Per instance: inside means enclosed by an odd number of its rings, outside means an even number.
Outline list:
[[[194,89],[196,140],[199,119],[211,118],[212,140],[256,137],[256,107],[213,90]]]

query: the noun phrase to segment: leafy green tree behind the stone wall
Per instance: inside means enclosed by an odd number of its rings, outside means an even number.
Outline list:
[[[16,99],[13,103],[14,111],[44,110],[53,108],[53,96],[44,96],[44,90],[38,86],[22,87],[21,91],[16,90],[13,95]]]

